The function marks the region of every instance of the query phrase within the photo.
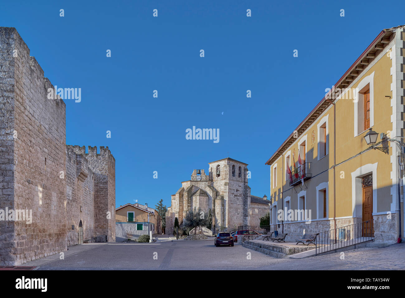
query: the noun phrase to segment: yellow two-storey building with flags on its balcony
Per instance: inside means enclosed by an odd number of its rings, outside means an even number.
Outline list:
[[[266,162],[272,230],[286,239],[361,222],[373,245],[403,237],[404,28],[380,32]]]

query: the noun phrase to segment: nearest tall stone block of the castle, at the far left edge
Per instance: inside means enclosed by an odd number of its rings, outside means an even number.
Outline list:
[[[1,187],[6,200],[0,209],[32,210],[31,224],[6,224],[12,233],[1,224],[0,234],[7,235],[1,247],[7,249],[0,253],[0,264],[13,265],[66,250],[66,221],[60,220],[66,217],[66,184],[59,178],[66,161],[66,118],[63,100],[47,98],[52,84],[15,28],[0,28],[0,49],[1,102],[6,105],[0,127],[7,149],[0,177],[13,178],[13,184]]]

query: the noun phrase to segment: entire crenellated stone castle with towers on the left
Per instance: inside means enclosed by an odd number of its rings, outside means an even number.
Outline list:
[[[0,266],[115,241],[115,159],[66,146],[53,88],[17,30],[0,27]]]

